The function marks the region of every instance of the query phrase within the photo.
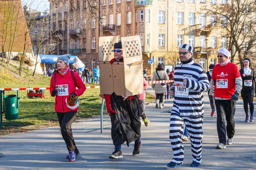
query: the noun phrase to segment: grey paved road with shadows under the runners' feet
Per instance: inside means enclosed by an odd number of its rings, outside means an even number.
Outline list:
[[[154,91],[148,88],[148,91]],[[232,145],[226,149],[215,149],[218,142],[216,114],[211,117],[211,108],[205,93],[204,138],[202,163],[200,167],[190,167],[192,152],[190,142],[184,144],[184,164],[177,170],[255,170],[256,169],[256,122],[244,122],[243,102],[236,105],[236,133]],[[164,108],[155,108],[151,103],[146,108],[146,116],[151,121],[141,128],[141,153],[132,156],[133,145],[122,144],[122,159],[109,159],[114,146],[111,128],[100,133],[100,120],[92,119],[72,125],[73,135],[81,153],[74,162],[68,162],[67,147],[61,137],[59,127],[33,130],[0,137],[0,170],[167,170],[172,160],[169,141],[169,121],[172,100],[166,100]],[[172,169],[172,168],[170,168]]]

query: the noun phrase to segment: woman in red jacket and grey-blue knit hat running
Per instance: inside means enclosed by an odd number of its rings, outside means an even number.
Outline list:
[[[58,71],[52,75],[50,94],[55,96],[55,111],[61,127],[61,135],[69,152],[67,159],[75,161],[76,156],[79,155],[79,150],[73,138],[71,124],[79,109],[79,100],[76,100],[77,96],[82,95],[86,87],[79,75],[74,71],[70,71],[69,60],[70,54],[58,57]],[[77,90],[76,87],[78,88]]]

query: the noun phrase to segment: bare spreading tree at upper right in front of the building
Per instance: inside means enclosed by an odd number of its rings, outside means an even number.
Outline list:
[[[212,18],[212,26],[227,37],[226,47],[231,51],[231,62],[238,54],[239,62],[255,50],[256,46],[256,1],[231,0],[226,4],[205,6],[203,9]]]

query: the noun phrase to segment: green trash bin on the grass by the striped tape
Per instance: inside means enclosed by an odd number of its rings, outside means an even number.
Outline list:
[[[19,118],[18,99],[16,95],[3,95],[3,105],[5,118],[7,120],[15,120]]]

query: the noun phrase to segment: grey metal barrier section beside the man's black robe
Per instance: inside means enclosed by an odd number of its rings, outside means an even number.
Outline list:
[[[100,133],[103,133],[103,128],[110,127],[110,126],[111,126],[110,116],[108,115],[105,100],[102,99],[102,107],[100,112]]]

